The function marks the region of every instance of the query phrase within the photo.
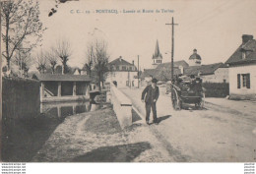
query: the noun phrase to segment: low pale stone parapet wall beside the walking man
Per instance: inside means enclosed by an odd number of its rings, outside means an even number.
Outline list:
[[[122,129],[132,125],[132,101],[117,87],[111,85],[111,103]]]

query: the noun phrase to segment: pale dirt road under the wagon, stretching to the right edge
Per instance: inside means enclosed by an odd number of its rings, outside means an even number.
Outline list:
[[[122,91],[145,115],[145,105],[140,99],[142,89]],[[149,127],[177,162],[255,162],[255,106],[255,102],[207,98],[202,110],[187,105],[174,111],[170,97],[161,93],[157,103],[160,124]]]

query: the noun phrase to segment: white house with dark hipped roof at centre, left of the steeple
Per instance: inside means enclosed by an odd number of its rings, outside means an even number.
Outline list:
[[[119,58],[108,63],[106,83],[116,83],[117,87],[138,87],[138,70],[133,63]]]

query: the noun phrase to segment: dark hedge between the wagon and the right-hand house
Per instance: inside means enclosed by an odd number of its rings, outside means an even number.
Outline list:
[[[229,94],[229,84],[226,83],[203,83],[206,88],[206,97],[225,97]]]

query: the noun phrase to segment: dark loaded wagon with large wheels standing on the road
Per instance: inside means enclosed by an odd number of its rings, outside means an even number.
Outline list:
[[[194,104],[196,108],[203,108],[205,103],[205,89],[202,79],[180,77],[171,84],[171,101],[175,110],[182,109],[184,103]]]

